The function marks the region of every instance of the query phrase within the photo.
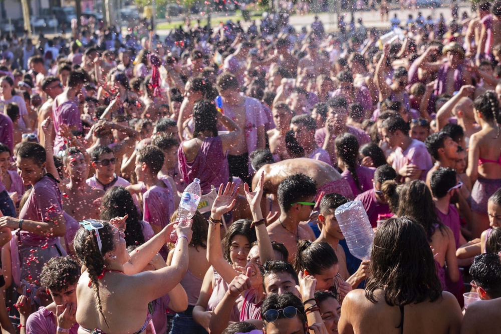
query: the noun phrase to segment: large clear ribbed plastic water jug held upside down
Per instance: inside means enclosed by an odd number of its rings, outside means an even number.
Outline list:
[[[350,253],[361,260],[370,260],[374,231],[362,202],[352,201],[343,204],[334,211],[334,215],[345,236]]]

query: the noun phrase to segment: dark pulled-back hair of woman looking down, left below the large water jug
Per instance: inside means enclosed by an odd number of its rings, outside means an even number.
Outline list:
[[[319,275],[323,270],[329,269],[338,262],[334,249],[327,242],[301,240],[298,244],[294,269],[298,273],[306,270],[310,275]]]

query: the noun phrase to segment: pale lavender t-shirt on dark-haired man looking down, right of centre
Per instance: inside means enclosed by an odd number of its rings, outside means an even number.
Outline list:
[[[428,173],[431,167],[433,167],[433,162],[431,161],[431,156],[423,142],[412,139],[411,144],[405,149],[405,151],[402,151],[400,147],[395,149],[392,165],[393,169],[398,173],[400,168],[406,164],[416,165],[422,171],[419,179],[426,181],[426,173]]]

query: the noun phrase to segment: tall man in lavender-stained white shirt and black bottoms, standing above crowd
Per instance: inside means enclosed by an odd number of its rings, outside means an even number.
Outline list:
[[[240,94],[240,85],[231,73],[219,75],[217,90],[223,100],[223,111],[231,118],[242,133],[240,138],[228,151],[229,176],[237,176],[250,184],[252,167],[248,163],[248,155],[257,149],[265,148],[265,120],[263,105],[254,98]]]

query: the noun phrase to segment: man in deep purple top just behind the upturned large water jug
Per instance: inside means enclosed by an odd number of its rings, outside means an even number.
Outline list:
[[[356,201],[361,201],[364,205],[372,227],[376,227],[379,214],[391,213],[390,207],[381,192],[381,185],[385,181],[395,180],[396,177],[397,173],[390,165],[379,166],[374,172],[374,188],[361,193],[355,198]]]

